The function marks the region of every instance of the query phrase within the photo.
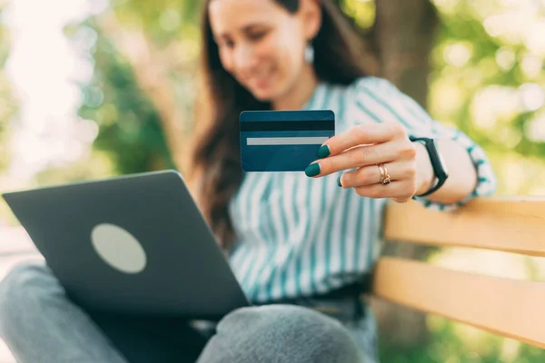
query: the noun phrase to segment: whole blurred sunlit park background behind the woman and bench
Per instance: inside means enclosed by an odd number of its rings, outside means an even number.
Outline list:
[[[0,0],[0,191],[182,170],[198,92],[196,3]],[[337,3],[364,29],[377,18],[373,1]],[[419,54],[431,64],[413,78],[425,87],[415,98],[425,94],[419,102],[435,119],[485,148],[498,195],[545,195],[545,0],[433,0],[431,8],[438,25],[429,53]],[[385,76],[410,74],[410,60],[400,62]],[[0,236],[18,226],[3,201],[0,226]],[[16,243],[0,240],[0,252]],[[431,256],[454,269],[545,280],[540,259],[461,249]],[[18,260],[0,253],[0,271]],[[540,349],[479,329],[436,317],[426,324],[431,340],[384,341],[383,361],[545,360]],[[0,363],[14,361],[0,351]]]

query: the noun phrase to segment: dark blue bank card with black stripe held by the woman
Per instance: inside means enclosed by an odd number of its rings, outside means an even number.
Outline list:
[[[302,172],[335,134],[331,110],[244,111],[239,120],[244,172]]]

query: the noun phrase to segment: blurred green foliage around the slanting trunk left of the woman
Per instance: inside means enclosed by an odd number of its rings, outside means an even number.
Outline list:
[[[187,111],[191,108],[184,103],[191,98],[187,95],[191,85],[187,84],[187,74],[176,74],[176,66],[183,61],[174,57],[194,58],[199,9],[199,2],[189,0],[118,0],[112,2],[111,8],[115,21],[124,29],[143,32],[156,49],[174,49],[165,59],[173,64],[166,72],[167,82],[180,108]],[[100,127],[94,148],[108,152],[120,173],[174,168],[160,114],[139,88],[135,70],[124,54],[109,42],[110,34],[103,34],[96,23],[92,19],[83,25],[98,36],[93,52],[94,80],[83,85],[85,102],[80,110],[82,117],[96,121]]]

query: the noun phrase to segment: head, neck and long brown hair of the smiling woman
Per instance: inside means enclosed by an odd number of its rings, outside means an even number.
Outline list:
[[[191,177],[199,179],[203,195],[215,196],[201,206],[228,244],[233,229],[227,203],[242,180],[239,114],[298,110],[321,80],[352,83],[367,74],[364,47],[330,0],[207,1],[202,36],[205,87]]]

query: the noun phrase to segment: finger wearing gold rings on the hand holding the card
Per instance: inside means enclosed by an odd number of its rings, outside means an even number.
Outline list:
[[[416,174],[415,162],[386,162],[386,173],[392,182],[414,178]],[[345,172],[339,178],[342,188],[354,188],[381,182],[381,171],[377,165],[368,165],[352,172]]]

